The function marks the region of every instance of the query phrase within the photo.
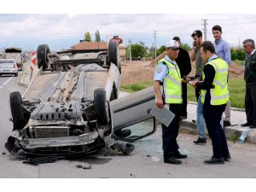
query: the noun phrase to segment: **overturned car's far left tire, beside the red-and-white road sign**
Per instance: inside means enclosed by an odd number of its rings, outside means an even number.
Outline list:
[[[37,60],[38,60],[38,68],[43,66],[43,71],[49,67],[49,57],[50,54],[49,46],[47,44],[40,44],[38,46],[37,52]]]

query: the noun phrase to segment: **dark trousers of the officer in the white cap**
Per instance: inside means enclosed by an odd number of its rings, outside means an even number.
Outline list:
[[[175,114],[175,117],[172,119],[172,123],[168,127],[166,127],[166,125],[162,125],[163,151],[165,159],[175,156],[178,152],[177,134],[181,104],[170,104],[169,106],[170,111]]]

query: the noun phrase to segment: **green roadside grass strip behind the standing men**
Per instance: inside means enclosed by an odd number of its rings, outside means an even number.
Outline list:
[[[137,84],[122,84],[121,90],[125,92],[136,92],[138,90],[143,90],[149,86],[152,86],[153,82],[141,82]],[[244,97],[245,97],[245,82],[243,79],[230,79],[229,81],[230,90],[230,101],[231,107],[233,108],[245,108],[244,107]],[[195,89],[188,84],[188,100],[191,102],[196,102],[195,99]]]

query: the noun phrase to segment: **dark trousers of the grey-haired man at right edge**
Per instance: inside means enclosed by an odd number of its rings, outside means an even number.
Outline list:
[[[256,84],[246,84],[245,108],[247,122],[256,125]]]

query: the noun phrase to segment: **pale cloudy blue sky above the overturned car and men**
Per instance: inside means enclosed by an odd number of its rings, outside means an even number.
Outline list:
[[[49,44],[54,50],[68,49],[79,43],[86,31],[94,39],[96,30],[103,40],[119,34],[125,44],[131,39],[132,43],[142,41],[149,47],[154,41],[154,30],[157,31],[157,47],[174,36],[179,36],[183,43],[192,44],[190,35],[202,29],[201,19],[208,19],[207,40],[213,40],[211,29],[216,24],[223,27],[223,37],[232,46],[237,46],[239,39],[242,42],[245,38],[255,38],[256,15],[5,14],[0,15],[0,49],[10,46],[37,49],[38,44]]]

